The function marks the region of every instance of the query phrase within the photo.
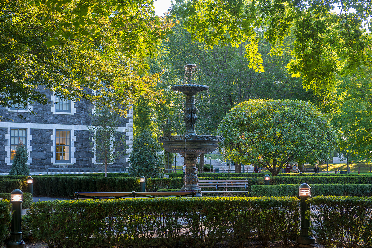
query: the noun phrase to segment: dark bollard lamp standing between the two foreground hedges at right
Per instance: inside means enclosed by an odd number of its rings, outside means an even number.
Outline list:
[[[310,211],[310,204],[306,199],[311,197],[311,187],[307,183],[302,183],[298,187],[298,195],[301,199],[301,234],[297,237],[298,244],[315,244],[315,238],[309,235],[310,219],[306,218],[306,211]]]

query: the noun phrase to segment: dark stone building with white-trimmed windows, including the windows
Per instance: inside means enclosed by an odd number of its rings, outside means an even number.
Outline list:
[[[42,91],[42,90],[41,90]],[[0,122],[0,173],[9,172],[19,142],[27,146],[31,172],[46,172],[48,168],[102,167],[90,147],[93,105],[88,101],[64,101],[48,90],[48,105],[33,104],[27,109],[0,107],[0,116],[9,118]],[[30,114],[31,110],[37,114]],[[126,136],[132,146],[132,110],[121,119],[117,136]],[[25,118],[19,118],[18,114]],[[13,120],[13,121],[11,121]],[[125,133],[125,130],[128,130]],[[116,159],[112,167],[129,166],[129,156]]]

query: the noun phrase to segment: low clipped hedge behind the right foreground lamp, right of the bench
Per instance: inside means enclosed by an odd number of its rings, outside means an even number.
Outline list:
[[[252,185],[251,196],[298,196],[300,184]],[[371,184],[312,184],[311,196],[372,196]]]

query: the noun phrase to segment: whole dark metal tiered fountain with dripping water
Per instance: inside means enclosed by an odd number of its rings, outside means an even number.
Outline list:
[[[185,65],[189,84],[174,85],[171,87],[173,91],[180,91],[186,95],[186,106],[183,112],[185,113],[183,120],[186,125],[186,133],[184,135],[163,136],[159,137],[159,142],[163,143],[166,151],[171,153],[180,153],[185,158],[186,172],[183,177],[184,187],[181,191],[196,192],[197,196],[201,196],[202,192],[198,185],[199,179],[196,173],[196,163],[198,157],[202,153],[210,153],[216,150],[218,143],[223,140],[222,136],[198,135],[195,133],[195,123],[198,120],[196,116],[197,108],[195,108],[195,95],[201,91],[209,89],[206,85],[191,84],[192,69],[196,65]]]

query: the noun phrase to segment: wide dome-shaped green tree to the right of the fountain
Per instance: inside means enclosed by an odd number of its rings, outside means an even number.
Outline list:
[[[329,157],[336,133],[310,102],[250,100],[231,109],[219,132],[226,157],[237,163],[260,164],[274,176],[290,161],[313,163]]]

